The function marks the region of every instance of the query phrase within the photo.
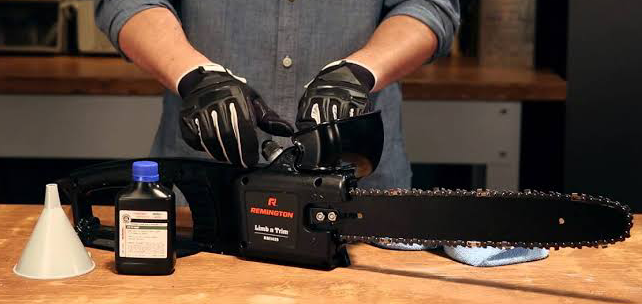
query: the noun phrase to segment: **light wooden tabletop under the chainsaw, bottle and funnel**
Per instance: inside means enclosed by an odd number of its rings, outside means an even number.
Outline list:
[[[349,268],[320,271],[199,253],[170,276],[121,276],[113,252],[96,269],[53,281],[12,272],[41,206],[0,205],[0,303],[634,303],[642,301],[642,229],[608,249],[561,249],[545,260],[475,268],[430,252],[351,246]],[[112,209],[97,214],[111,218]],[[636,215],[639,223],[641,215]]]

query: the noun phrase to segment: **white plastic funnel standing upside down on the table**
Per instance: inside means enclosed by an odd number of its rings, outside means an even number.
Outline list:
[[[60,206],[58,185],[48,184],[45,208],[13,272],[30,279],[63,279],[95,266]]]

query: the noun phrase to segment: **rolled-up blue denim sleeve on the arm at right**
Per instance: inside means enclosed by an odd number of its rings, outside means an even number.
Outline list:
[[[384,5],[389,10],[384,19],[406,15],[430,27],[438,40],[431,61],[448,54],[460,23],[458,0],[386,0]]]

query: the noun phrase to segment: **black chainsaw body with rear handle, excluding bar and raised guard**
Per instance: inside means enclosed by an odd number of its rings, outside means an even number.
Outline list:
[[[188,245],[186,249],[190,253],[196,248],[319,269],[349,265],[346,248],[336,237],[335,227],[313,224],[310,212],[330,210],[332,204],[349,200],[348,189],[356,186],[353,170],[296,171],[294,160],[298,159],[298,151],[296,147],[288,148],[272,164],[260,169],[195,159],[153,159],[163,168],[161,183],[175,185],[189,203],[194,226],[192,239],[182,242]],[[107,201],[113,203],[115,191],[130,182],[131,163],[118,161],[93,166],[58,181],[61,198],[72,204],[75,227],[85,246],[113,250],[113,227],[101,225],[91,207],[101,202],[98,194],[102,190],[112,190]],[[277,202],[280,209],[276,212],[292,216],[272,221],[252,212],[252,208],[272,208],[269,204],[276,208]],[[257,239],[254,233],[257,227],[268,225],[291,232],[290,242],[274,245]],[[180,249],[180,245],[177,247]]]

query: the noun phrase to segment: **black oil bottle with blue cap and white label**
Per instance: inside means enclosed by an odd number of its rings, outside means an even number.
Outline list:
[[[116,198],[116,271],[121,274],[171,274],[176,264],[176,203],[159,184],[158,164],[137,161],[132,183]]]

